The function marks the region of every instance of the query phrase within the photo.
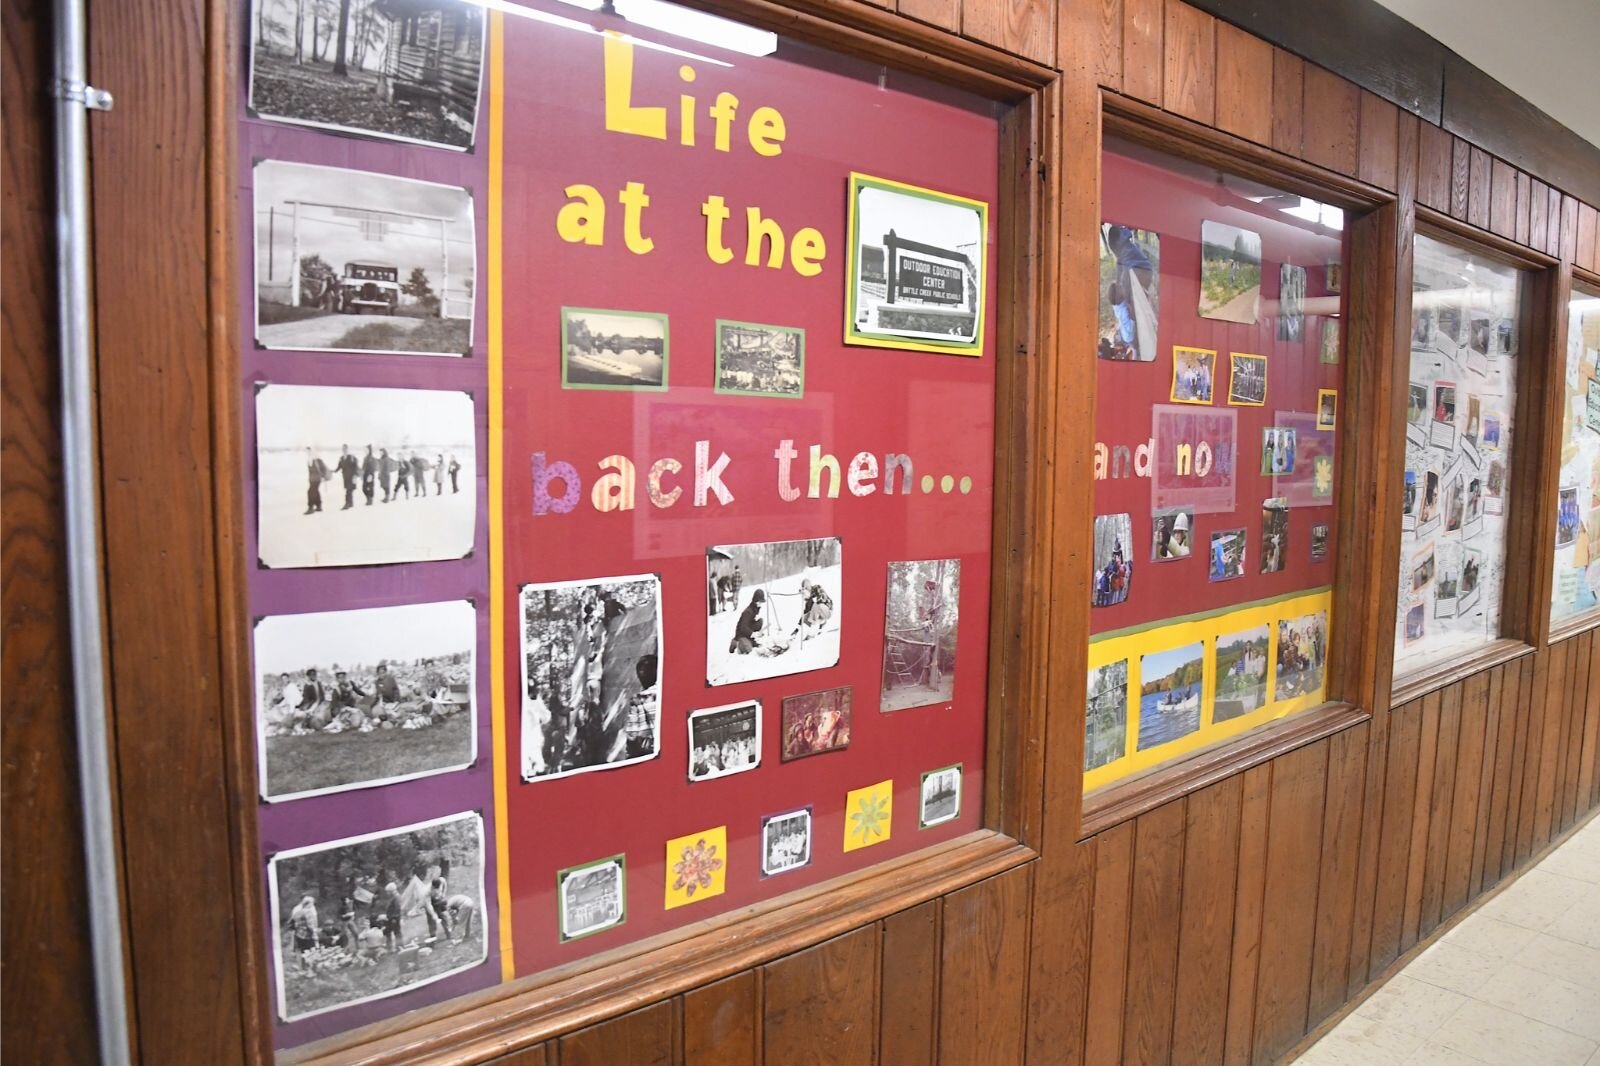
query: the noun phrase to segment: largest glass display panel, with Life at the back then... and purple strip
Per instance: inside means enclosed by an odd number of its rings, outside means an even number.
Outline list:
[[[982,824],[1000,110],[590,6],[250,13],[290,1058]]]

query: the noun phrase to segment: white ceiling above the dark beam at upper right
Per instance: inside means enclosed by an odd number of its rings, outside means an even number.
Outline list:
[[[1378,2],[1600,146],[1600,0]]]

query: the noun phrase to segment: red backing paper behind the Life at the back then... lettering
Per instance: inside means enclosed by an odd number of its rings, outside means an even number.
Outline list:
[[[502,922],[514,965],[507,976],[698,922],[851,869],[928,847],[981,824],[989,615],[990,493],[994,464],[994,315],[979,359],[846,347],[846,182],[851,171],[987,202],[998,194],[998,120],[989,101],[802,48],[787,40],[754,58],[685,37],[656,34],[606,16],[547,5],[550,19],[498,16],[501,62],[491,82],[491,338],[502,407],[499,442],[502,515],[496,603],[498,714],[502,715]],[[630,106],[666,107],[666,139],[608,131],[603,51],[597,30],[632,37]],[[686,82],[682,69],[693,70]],[[613,82],[613,88],[616,88]],[[738,98],[728,150],[718,150],[707,109],[718,93]],[[693,94],[694,144],[680,136],[680,96]],[[781,154],[752,150],[746,122],[757,107],[782,115]],[[643,186],[634,250],[618,194]],[[606,202],[603,243],[571,243],[557,230],[570,186],[592,186]],[[725,198],[730,262],[707,254],[702,202]],[[814,227],[826,242],[821,271],[747,266],[746,210],[760,208],[792,238]],[[638,238],[650,242],[648,251]],[[995,232],[987,234],[987,306],[995,306]],[[766,246],[762,253],[765,256]],[[669,319],[667,387],[610,392],[562,387],[562,307],[654,312]],[[715,322],[805,330],[803,399],[714,392]],[[779,493],[774,450],[790,440],[792,482]],[[694,503],[696,442],[714,466],[728,456],[722,483]],[[810,450],[832,455],[842,472],[856,453],[912,458],[914,479],[890,495],[806,493]],[[491,443],[491,450],[494,445]],[[536,455],[546,469],[570,463],[581,480],[566,512],[536,514]],[[635,467],[632,509],[592,503],[600,459],[627,456]],[[683,495],[653,504],[646,472],[661,458],[682,471],[664,490]],[[949,475],[949,482],[946,482]],[[931,479],[931,480],[925,480]],[[962,491],[963,479],[971,479]],[[931,485],[931,491],[925,490]],[[547,485],[562,498],[570,488]],[[710,688],[706,680],[706,549],[714,544],[837,536],[843,571],[840,661],[830,669]],[[952,703],[878,711],[883,667],[886,567],[891,560],[960,559],[958,664]],[[522,679],[518,587],[626,575],[659,575],[662,594],[662,712],[659,755],[621,768],[525,783],[520,778]],[[845,751],[794,762],[779,759],[784,696],[853,687],[853,736]],[[714,781],[688,781],[686,715],[760,699],[762,765]],[[962,763],[962,813],[918,829],[922,773]],[[893,781],[888,840],[843,852],[846,791]],[[810,807],[808,866],[763,879],[760,821]],[[670,872],[666,842],[726,826],[726,892],[664,909]],[[562,943],[557,872],[626,855],[627,912],[621,927]],[[502,930],[502,943],[504,943]]]

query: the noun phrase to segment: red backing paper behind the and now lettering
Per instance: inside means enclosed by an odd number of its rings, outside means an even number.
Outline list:
[[[1320,435],[1307,432],[1315,426],[1318,389],[1338,389],[1342,400],[1342,331],[1341,362],[1320,362],[1322,323],[1328,315],[1339,314],[1346,299],[1342,293],[1330,291],[1326,267],[1330,261],[1346,261],[1342,232],[1285,210],[1312,213],[1315,205],[1310,200],[1221,176],[1131,142],[1107,141],[1101,155],[1101,189],[1106,222],[1160,234],[1160,307],[1154,362],[1094,360],[1096,440],[1106,448],[1104,466],[1096,463],[1094,514],[1131,515],[1133,581],[1122,603],[1091,608],[1091,632],[1104,634],[1331,584],[1338,536],[1331,488],[1325,499],[1314,503],[1307,499],[1304,482],[1290,485],[1290,479],[1280,475],[1274,487],[1274,477],[1261,474],[1261,434],[1274,424],[1298,426],[1304,461],[1310,443],[1307,437]],[[1254,325],[1202,319],[1198,314],[1203,221],[1261,235],[1261,306]],[[1278,267],[1285,262],[1306,267],[1306,328],[1299,341],[1277,339]],[[1234,507],[1195,515],[1190,557],[1152,562],[1152,479],[1139,475],[1144,467],[1136,461],[1136,448],[1150,443],[1152,408],[1173,403],[1173,346],[1216,351],[1211,405],[1182,405],[1178,410],[1237,413]],[[1267,359],[1264,407],[1229,407],[1230,352]],[[1286,413],[1299,415],[1288,419]],[[1339,418],[1344,418],[1342,410]],[[1320,437],[1318,445],[1331,451],[1333,434]],[[1126,458],[1134,461],[1117,463],[1114,450],[1118,447],[1125,447]],[[1152,464],[1160,458],[1152,456]],[[1099,477],[1101,472],[1104,477]],[[1282,571],[1264,575],[1259,573],[1261,506],[1272,496],[1290,498],[1288,554]],[[1312,562],[1310,530],[1318,523],[1330,527],[1328,552]],[[1211,531],[1240,527],[1248,538],[1245,575],[1210,581]]]

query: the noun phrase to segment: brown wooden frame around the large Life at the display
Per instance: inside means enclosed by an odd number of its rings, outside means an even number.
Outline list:
[[[229,221],[237,152],[230,62],[243,51],[237,45],[243,26],[235,6],[211,0],[218,27],[226,27],[226,34],[219,35],[226,46],[213,51],[208,66],[208,91],[213,93],[208,194],[213,216],[219,219],[211,227],[208,245],[210,288],[221,295],[211,317],[211,402],[218,411],[213,463],[218,483],[229,487],[226,493],[219,491],[216,519],[219,547],[230,549],[219,551],[218,568],[226,623],[224,663],[230,682],[224,717],[230,763],[232,882],[237,914],[245,916],[235,930],[242,964],[238,980],[250,1056],[270,1063],[269,952],[264,951],[256,919],[262,912],[264,885],[256,861],[254,703],[248,677],[250,619],[245,602],[248,560],[242,552],[246,501],[226,475],[243,463],[238,370],[230,341],[237,336],[237,311],[229,299],[235,291],[238,254],[232,246]],[[1042,359],[1048,351],[1048,331],[1040,315],[1043,295],[1054,285],[1053,264],[1040,254],[1048,246],[1054,192],[1042,186],[1035,160],[1050,157],[1048,107],[1056,74],[978,43],[952,40],[933,27],[902,19],[885,21],[878,13],[845,3],[818,3],[816,14],[766,0],[718,0],[701,6],[850,54],[915,66],[918,74],[1011,106],[1000,120],[1002,197],[994,222],[1000,227],[995,269],[1003,296],[990,325],[997,330],[997,410],[986,828],[744,911],[291,1048],[278,1055],[278,1061],[480,1061],[792,954],[1037,856],[1029,844],[1037,840],[1043,813],[1043,749],[1029,738],[1043,731],[1045,698],[1030,674],[1048,659],[1048,600],[1030,594],[1037,586],[1026,575],[1029,567],[1045,565],[1045,549],[1035,531],[1053,511],[1050,487],[1038,479],[1048,464],[1038,456],[1054,439],[1054,411],[1043,367],[1048,360]],[[1024,560],[1021,570],[1019,560]]]

